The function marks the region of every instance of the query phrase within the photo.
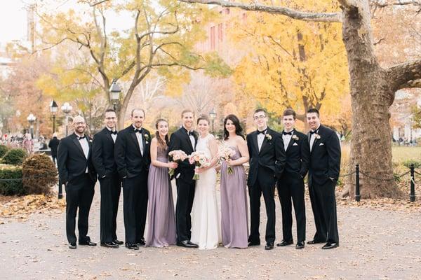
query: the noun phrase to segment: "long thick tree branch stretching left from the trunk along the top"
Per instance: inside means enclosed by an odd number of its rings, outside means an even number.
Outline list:
[[[227,8],[241,8],[243,10],[255,10],[272,14],[286,15],[295,20],[310,22],[342,22],[342,13],[311,13],[293,10],[286,7],[266,6],[260,3],[239,3],[224,0],[179,0],[185,3],[202,3],[207,5],[218,5]]]

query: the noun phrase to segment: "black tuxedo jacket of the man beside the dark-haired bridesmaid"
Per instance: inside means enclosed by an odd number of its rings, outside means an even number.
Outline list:
[[[250,169],[248,171],[247,185],[253,186],[258,179],[258,169],[264,167],[271,169],[276,178],[280,178],[285,167],[286,155],[283,148],[281,134],[267,128],[266,135],[270,135],[272,139],[265,137],[262,148],[259,152],[258,132],[252,132],[247,135],[247,147],[250,155]]]

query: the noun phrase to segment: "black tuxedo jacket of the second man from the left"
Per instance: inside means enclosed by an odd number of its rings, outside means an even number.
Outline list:
[[[117,172],[117,165],[114,160],[114,141],[107,127],[104,127],[93,137],[92,162],[99,178]]]

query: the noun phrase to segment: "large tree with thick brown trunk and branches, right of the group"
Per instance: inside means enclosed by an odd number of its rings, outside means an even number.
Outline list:
[[[397,90],[406,87],[421,87],[421,59],[389,67],[380,66],[375,55],[369,0],[338,0],[341,10],[335,13],[305,12],[285,6],[267,6],[260,3],[220,0],[180,1],[286,15],[311,22],[341,22],[342,40],[347,50],[353,113],[353,137],[349,164],[353,167],[358,163],[361,171],[370,176],[361,178],[363,197],[398,195],[399,192],[393,180],[389,107],[394,102]],[[420,1],[415,0],[382,2],[385,5],[421,7]],[[372,178],[389,179],[389,181]],[[350,188],[351,194],[353,190],[354,188]]]

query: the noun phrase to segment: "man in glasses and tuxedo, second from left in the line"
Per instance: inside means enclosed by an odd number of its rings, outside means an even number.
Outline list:
[[[116,112],[107,109],[104,116],[105,127],[95,134],[92,144],[92,162],[98,173],[101,191],[101,246],[109,248],[119,248],[119,245],[123,244],[116,235],[116,218],[121,193],[121,180],[114,160],[116,121]]]

